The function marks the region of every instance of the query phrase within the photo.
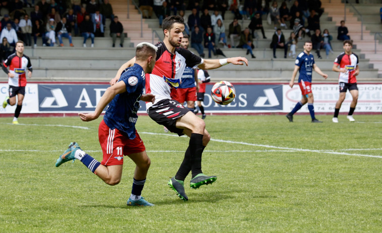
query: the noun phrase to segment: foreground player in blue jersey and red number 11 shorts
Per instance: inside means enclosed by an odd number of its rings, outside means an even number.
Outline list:
[[[145,73],[150,73],[155,65],[156,47],[150,43],[137,45],[133,66],[125,69],[116,85],[106,89],[93,113],[79,113],[82,121],[92,121],[99,117],[107,106],[103,120],[99,124],[98,139],[102,147],[103,160],[99,163],[85,153],[76,142],[61,154],[56,167],[78,159],[108,185],[121,181],[124,156],[136,164],[133,188],[127,205],[152,206],[141,197],[146,181],[150,159],[145,146],[135,129],[138,119],[139,100],[154,102],[153,94],[143,94]]]

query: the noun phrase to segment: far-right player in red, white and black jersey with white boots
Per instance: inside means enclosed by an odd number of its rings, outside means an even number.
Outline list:
[[[347,118],[349,121],[355,121],[353,118],[353,112],[358,101],[358,87],[356,76],[359,74],[358,56],[352,52],[353,43],[351,40],[344,41],[345,52],[341,53],[334,61],[333,71],[340,72],[339,84],[340,84],[340,98],[336,103],[336,109],[334,110],[334,117],[332,121],[338,123],[338,114],[342,102],[346,97],[346,91],[349,89],[353,100],[350,104],[350,110]],[[340,68],[338,68],[340,66]]]

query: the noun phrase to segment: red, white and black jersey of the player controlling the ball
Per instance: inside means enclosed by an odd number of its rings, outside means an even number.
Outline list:
[[[177,47],[171,53],[163,42],[155,45],[156,61],[154,69],[146,74],[146,93],[155,95],[155,102],[164,99],[176,99],[177,88],[186,66],[196,68],[203,63],[203,59],[187,49]],[[151,102],[146,103],[146,109],[151,107]]]

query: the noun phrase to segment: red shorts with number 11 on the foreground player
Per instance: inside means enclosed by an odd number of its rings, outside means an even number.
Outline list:
[[[98,140],[101,144],[104,166],[123,165],[123,156],[146,150],[137,130],[135,138],[129,139],[118,129],[110,129],[102,120],[98,127]]]

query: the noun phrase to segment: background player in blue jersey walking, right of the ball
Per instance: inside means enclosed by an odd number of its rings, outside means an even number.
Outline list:
[[[310,54],[312,50],[312,42],[306,41],[304,43],[304,51],[301,52],[295,62],[295,69],[293,70],[292,79],[289,86],[292,88],[294,81],[299,71],[300,75],[298,77],[298,85],[302,93],[302,99],[299,101],[293,110],[286,115],[290,122],[293,122],[293,114],[295,114],[304,104],[308,103],[308,109],[310,116],[312,118],[312,123],[322,123],[314,116],[313,108],[313,93],[312,93],[312,71],[316,71],[319,75],[323,76],[324,79],[328,77],[328,74],[323,73],[320,68],[315,64],[314,57]]]

